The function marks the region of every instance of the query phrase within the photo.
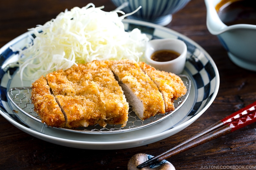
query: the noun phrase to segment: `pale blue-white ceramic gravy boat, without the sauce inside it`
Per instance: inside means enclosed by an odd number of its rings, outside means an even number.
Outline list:
[[[231,61],[244,69],[256,71],[256,25],[225,25],[215,10],[220,1],[204,0],[209,32],[218,36]]]

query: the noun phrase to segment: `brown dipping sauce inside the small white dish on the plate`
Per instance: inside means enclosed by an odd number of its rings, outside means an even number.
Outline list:
[[[151,55],[151,59],[157,62],[167,62],[179,57],[180,54],[173,50],[158,50]]]

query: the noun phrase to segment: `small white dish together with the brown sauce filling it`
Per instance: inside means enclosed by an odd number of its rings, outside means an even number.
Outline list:
[[[187,56],[185,42],[174,39],[154,39],[147,44],[145,57],[148,64],[158,70],[181,74],[184,70]]]

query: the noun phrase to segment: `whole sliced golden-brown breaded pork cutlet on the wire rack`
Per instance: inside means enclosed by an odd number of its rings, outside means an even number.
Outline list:
[[[132,60],[76,64],[42,76],[32,84],[34,110],[52,127],[87,127],[128,121],[129,105],[145,120],[174,110],[185,95],[181,78]],[[127,101],[129,102],[127,102]]]

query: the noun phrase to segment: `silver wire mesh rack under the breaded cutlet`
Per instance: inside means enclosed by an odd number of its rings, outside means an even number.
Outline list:
[[[178,98],[174,101],[175,110],[172,112],[167,112],[164,114],[158,114],[152,116],[144,121],[140,120],[140,118],[132,111],[131,107],[129,109],[128,121],[126,126],[121,127],[121,125],[111,125],[107,124],[105,128],[101,127],[100,125],[88,126],[88,127],[81,127],[75,129],[69,128],[57,128],[62,129],[70,132],[77,132],[77,133],[87,133],[87,134],[109,134],[109,133],[121,133],[131,130],[136,130],[140,128],[145,128],[147,126],[153,125],[157,122],[160,122],[167,117],[174,114],[187,100],[188,94],[190,93],[191,89],[191,80],[186,75],[179,75],[180,78],[183,80],[186,88],[187,93]],[[23,114],[29,116],[30,118],[41,122],[41,118],[38,116],[36,112],[34,112],[34,105],[32,104],[31,100],[31,87],[14,87],[9,89],[7,92],[8,99],[11,103]],[[14,114],[17,114],[19,111],[13,110]],[[45,124],[47,127],[47,125]]]

